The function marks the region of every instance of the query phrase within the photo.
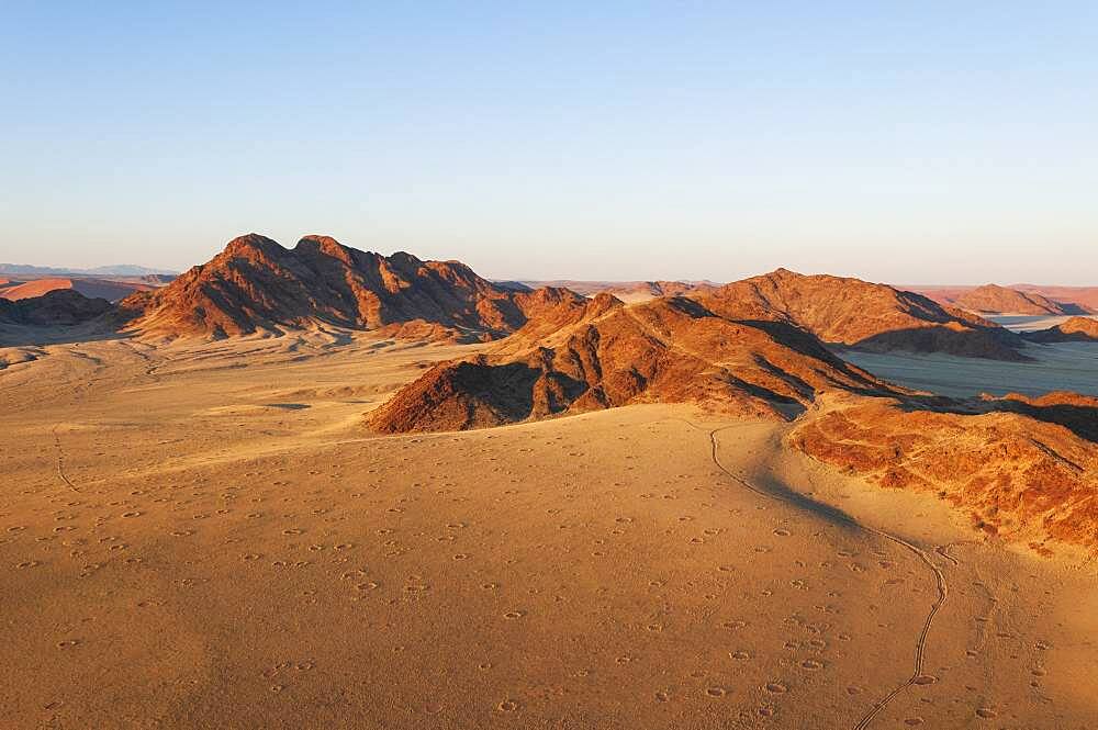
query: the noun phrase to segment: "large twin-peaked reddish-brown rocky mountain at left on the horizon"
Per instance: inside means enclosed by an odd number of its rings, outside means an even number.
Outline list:
[[[561,290],[514,291],[458,261],[382,256],[305,236],[287,249],[258,234],[210,262],[120,304],[126,329],[165,337],[226,337],[333,325],[402,337],[494,339],[519,328]]]

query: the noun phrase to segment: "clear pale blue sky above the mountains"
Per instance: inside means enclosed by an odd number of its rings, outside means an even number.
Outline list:
[[[0,71],[0,261],[1098,284],[1093,0],[5,0]]]

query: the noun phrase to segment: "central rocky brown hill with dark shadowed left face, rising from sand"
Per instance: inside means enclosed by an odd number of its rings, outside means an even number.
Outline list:
[[[565,303],[486,355],[436,366],[370,416],[383,433],[460,430],[632,403],[789,418],[819,392],[898,394],[781,322],[697,302]]]

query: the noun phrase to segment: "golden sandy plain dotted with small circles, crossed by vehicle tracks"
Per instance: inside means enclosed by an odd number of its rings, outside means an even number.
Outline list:
[[[686,407],[362,430],[469,349],[0,352],[0,726],[1098,727],[1091,565]]]

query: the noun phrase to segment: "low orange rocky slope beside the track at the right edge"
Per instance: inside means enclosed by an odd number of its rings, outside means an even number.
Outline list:
[[[1098,401],[1051,394],[968,405],[973,413],[849,398],[788,440],[881,486],[932,493],[986,532],[1042,552],[1050,541],[1098,550]]]

